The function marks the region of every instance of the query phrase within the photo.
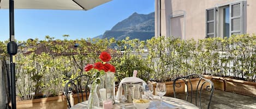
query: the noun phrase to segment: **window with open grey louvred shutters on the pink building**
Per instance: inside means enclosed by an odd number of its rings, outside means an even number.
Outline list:
[[[243,2],[206,9],[206,37],[243,34]]]

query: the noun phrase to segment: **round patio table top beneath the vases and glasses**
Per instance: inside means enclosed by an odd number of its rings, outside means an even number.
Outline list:
[[[86,109],[87,108],[87,102],[80,102],[79,104],[74,105],[70,109]],[[184,101],[177,98],[172,97],[162,97],[162,102],[160,103],[160,97],[157,95],[153,95],[152,99],[150,100],[150,106],[148,109],[198,109],[199,107],[193,105],[192,103],[188,101]],[[160,105],[162,104],[162,105]],[[102,107],[98,107],[101,109]],[[97,109],[97,108],[96,108]],[[113,105],[113,109],[136,109],[133,105],[133,103],[128,102],[116,102]]]

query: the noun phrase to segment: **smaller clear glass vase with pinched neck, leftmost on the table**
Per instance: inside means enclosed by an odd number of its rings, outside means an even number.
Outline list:
[[[99,107],[99,97],[97,94],[98,84],[93,83],[88,85],[88,87],[90,88],[90,95],[88,98],[88,109]]]

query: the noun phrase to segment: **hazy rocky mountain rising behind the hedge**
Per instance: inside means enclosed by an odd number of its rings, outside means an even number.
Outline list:
[[[125,20],[118,22],[111,30],[106,30],[102,39],[115,37],[116,40],[125,39],[147,40],[154,36],[154,12],[144,15],[134,12]]]

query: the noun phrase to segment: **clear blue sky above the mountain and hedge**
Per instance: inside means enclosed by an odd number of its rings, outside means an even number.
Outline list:
[[[74,10],[15,10],[15,39],[44,40],[45,35],[63,39],[86,39],[110,30],[134,12],[149,14],[154,0],[112,0],[88,11]],[[0,41],[9,39],[9,10],[0,10]]]

